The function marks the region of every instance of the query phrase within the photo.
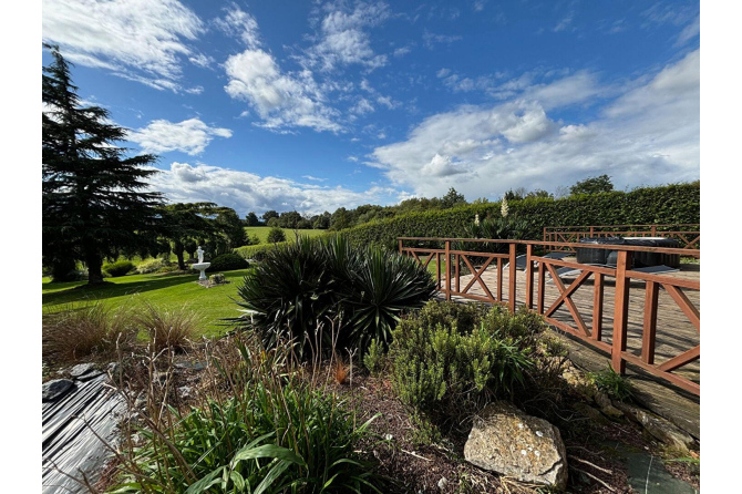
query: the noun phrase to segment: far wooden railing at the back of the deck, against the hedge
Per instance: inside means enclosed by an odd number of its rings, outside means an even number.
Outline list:
[[[580,238],[594,237],[667,237],[674,238],[683,249],[700,249],[701,225],[596,225],[596,226],[547,226],[544,241],[578,243]],[[558,250],[550,248],[549,250]]]

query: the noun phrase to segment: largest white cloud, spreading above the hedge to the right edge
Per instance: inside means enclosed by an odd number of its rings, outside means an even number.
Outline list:
[[[406,140],[378,146],[367,164],[382,168],[396,186],[426,197],[440,196],[450,186],[467,197],[492,198],[519,186],[554,191],[604,173],[619,189],[695,179],[699,74],[697,50],[622,88],[601,86],[585,73],[553,86],[532,84],[495,106],[465,105],[430,116]],[[567,91],[564,81],[569,78],[589,96]],[[615,100],[591,121],[564,124],[549,115],[575,102],[597,104],[606,94]]]

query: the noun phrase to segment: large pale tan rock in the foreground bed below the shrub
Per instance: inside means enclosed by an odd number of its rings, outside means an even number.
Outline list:
[[[504,401],[488,404],[474,419],[464,457],[522,482],[557,488],[567,484],[567,451],[559,430]]]

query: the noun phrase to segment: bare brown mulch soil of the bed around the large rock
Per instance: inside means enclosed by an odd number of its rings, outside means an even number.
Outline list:
[[[199,360],[190,353],[189,361]],[[327,368],[323,372],[328,372]],[[332,374],[331,371],[328,374]],[[171,389],[182,385],[199,387],[204,371],[181,369],[173,374]],[[374,418],[371,430],[378,435],[375,441],[359,445],[359,453],[377,463],[378,472],[387,480],[381,490],[384,493],[535,493],[553,492],[537,485],[517,482],[515,478],[486,472],[464,460],[464,444],[471,421],[466,419],[455,426],[439,429],[435,441],[420,434],[420,422],[412,411],[396,398],[391,381],[370,375],[353,375],[350,382],[334,381],[329,390],[347,398],[349,406],[358,412],[359,423]],[[568,453],[569,482],[566,492],[576,494],[631,493],[626,465],[622,459],[611,454],[607,445],[622,443],[626,447],[641,449],[662,455],[662,446],[642,435],[641,430],[629,422],[597,423],[574,409],[570,402],[580,399],[569,397],[560,403],[563,420],[555,423]],[[175,405],[189,403],[173,393]],[[529,413],[532,411],[527,410]],[[534,413],[536,414],[536,413]],[[668,471],[698,486],[698,467],[688,462],[668,463]],[[109,466],[97,487],[110,486],[112,469]]]

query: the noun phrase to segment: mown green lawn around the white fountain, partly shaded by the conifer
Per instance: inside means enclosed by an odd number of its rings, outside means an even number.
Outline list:
[[[41,284],[44,310],[61,310],[85,302],[100,300],[109,307],[127,307],[140,310],[144,302],[161,309],[175,309],[183,306],[197,311],[204,318],[204,335],[224,335],[229,328],[220,326],[219,319],[239,316],[239,307],[230,299],[237,297],[237,287],[249,269],[227,271],[225,277],[231,281],[214,288],[204,288],[196,282],[198,275],[128,275],[107,278],[114,285],[97,288],[75,288],[85,281],[52,284],[43,278]]]

